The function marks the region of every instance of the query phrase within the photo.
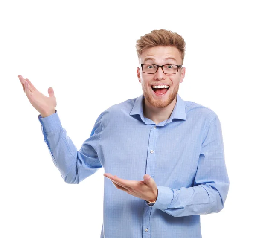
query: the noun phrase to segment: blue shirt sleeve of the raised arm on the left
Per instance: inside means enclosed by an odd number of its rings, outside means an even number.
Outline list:
[[[61,125],[57,110],[47,117],[38,115],[52,161],[66,183],[78,184],[102,168],[96,152],[102,132],[101,119],[102,114],[96,120],[90,137],[77,151],[76,146],[67,136],[67,131]]]

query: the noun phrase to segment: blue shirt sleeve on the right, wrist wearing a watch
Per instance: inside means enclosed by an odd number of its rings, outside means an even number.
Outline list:
[[[209,214],[223,209],[230,182],[217,115],[209,122],[204,134],[194,186],[180,189],[157,186],[157,201],[152,208],[174,217]]]

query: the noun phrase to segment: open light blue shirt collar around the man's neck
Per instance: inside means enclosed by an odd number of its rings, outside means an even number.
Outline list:
[[[152,124],[152,123],[148,122],[148,121],[151,121],[150,119],[144,118],[143,98],[144,98],[144,95],[142,94],[135,100],[135,103],[131,110],[130,116],[140,115],[140,118],[143,120],[143,122],[145,122],[146,124]],[[166,123],[172,122],[172,119],[186,120],[185,103],[178,93],[176,96],[176,104],[175,104],[175,107],[172,111],[170,118],[165,120],[163,123],[160,122],[159,125],[161,125],[161,124],[165,125]]]

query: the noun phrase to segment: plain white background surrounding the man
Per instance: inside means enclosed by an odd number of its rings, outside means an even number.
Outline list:
[[[53,88],[79,150],[102,111],[142,94],[135,44],[153,29],[183,36],[186,76],[178,93],[221,121],[230,190],[221,212],[201,215],[202,235],[255,237],[252,3],[1,2],[0,237],[99,238],[103,222],[104,169],[78,185],[64,183],[17,75],[46,96]]]

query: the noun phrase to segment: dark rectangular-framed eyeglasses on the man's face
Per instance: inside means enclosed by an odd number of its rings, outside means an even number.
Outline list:
[[[157,64],[141,64],[142,71],[144,73],[157,73],[159,67],[162,68],[163,73],[165,74],[175,74],[178,73],[179,68],[183,68],[183,65],[176,65],[176,64],[164,64],[164,65],[157,65]]]

